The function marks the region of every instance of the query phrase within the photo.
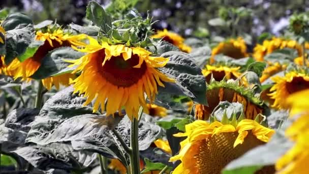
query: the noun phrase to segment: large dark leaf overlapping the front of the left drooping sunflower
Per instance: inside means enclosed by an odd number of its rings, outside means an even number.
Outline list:
[[[31,76],[34,79],[44,79],[59,73],[70,72],[67,67],[70,63],[65,60],[79,59],[84,53],[71,47],[60,47],[50,51],[42,60],[40,68]],[[63,70],[68,70],[63,72]],[[71,70],[71,69],[70,69]]]

